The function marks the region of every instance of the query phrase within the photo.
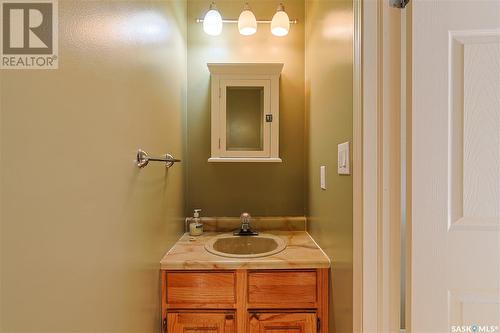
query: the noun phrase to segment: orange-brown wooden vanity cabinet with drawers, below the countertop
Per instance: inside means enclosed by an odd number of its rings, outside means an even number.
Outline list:
[[[163,333],[328,333],[328,268],[161,272]]]

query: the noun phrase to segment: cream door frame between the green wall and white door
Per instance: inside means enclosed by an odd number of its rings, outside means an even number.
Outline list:
[[[411,4],[402,12],[390,7],[388,1],[355,0],[354,13],[353,158],[358,160],[354,165],[361,165],[361,174],[353,174],[353,331],[399,332],[401,108],[403,102],[406,128],[411,129],[412,64],[411,58],[406,58],[402,68],[401,46],[402,43],[411,46]],[[407,16],[405,28],[409,29],[401,29],[402,15]],[[408,98],[403,97],[406,95]],[[406,165],[411,166],[411,132],[407,132],[407,137],[405,158]],[[411,177],[408,175],[411,176],[411,169],[406,170],[405,198],[406,248],[410,249]],[[407,250],[406,257],[409,256],[411,252]],[[408,266],[405,313],[409,332],[411,267]]]

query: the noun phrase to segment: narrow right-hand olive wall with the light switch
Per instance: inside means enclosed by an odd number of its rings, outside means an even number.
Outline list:
[[[336,170],[337,144],[352,143],[352,31],[352,1],[306,1],[308,227],[332,260],[331,333],[352,332],[352,177]]]

